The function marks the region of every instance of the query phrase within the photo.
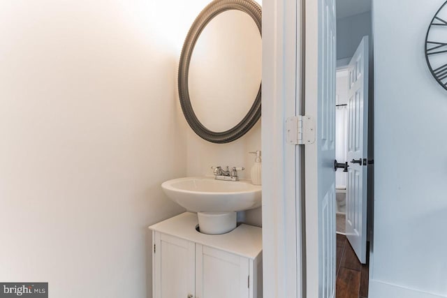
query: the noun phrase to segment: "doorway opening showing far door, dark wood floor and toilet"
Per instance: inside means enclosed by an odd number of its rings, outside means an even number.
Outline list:
[[[336,297],[366,298],[370,214],[367,207],[370,208],[368,200],[372,199],[372,185],[368,185],[368,176],[372,175],[372,129],[368,128],[368,119],[372,119],[372,109],[368,107],[373,100],[371,1],[337,0],[336,8]]]

